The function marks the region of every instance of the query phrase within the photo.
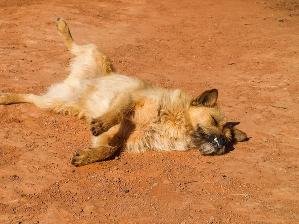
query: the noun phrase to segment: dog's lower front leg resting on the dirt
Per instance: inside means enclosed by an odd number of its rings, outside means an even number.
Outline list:
[[[113,156],[120,150],[123,142],[118,135],[120,124],[113,126],[107,132],[95,138],[94,147],[79,149],[72,158],[74,166],[84,166],[102,161]]]

